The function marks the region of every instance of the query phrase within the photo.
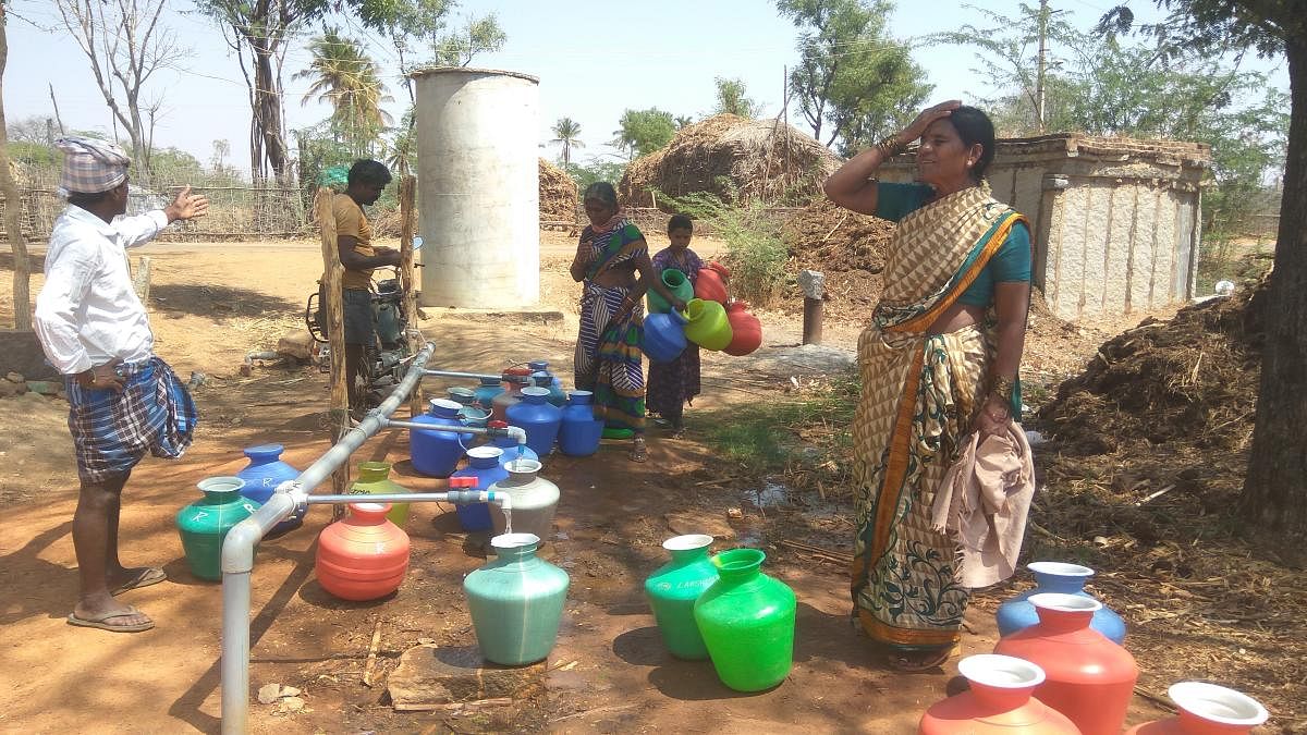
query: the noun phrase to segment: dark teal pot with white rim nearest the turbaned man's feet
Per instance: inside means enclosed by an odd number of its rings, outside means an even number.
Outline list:
[[[186,564],[191,574],[212,582],[222,581],[222,539],[233,526],[259,510],[259,504],[243,497],[240,477],[209,477],[196,485],[204,497],[176,514]]]

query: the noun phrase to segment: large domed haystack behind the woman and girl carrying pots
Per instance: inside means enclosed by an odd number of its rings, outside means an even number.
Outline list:
[[[630,207],[663,207],[650,190],[778,203],[818,192],[838,166],[834,153],[793,126],[716,115],[681,128],[665,148],[633,161],[618,196]]]

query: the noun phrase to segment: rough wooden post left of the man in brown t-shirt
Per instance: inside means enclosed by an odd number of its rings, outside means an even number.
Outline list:
[[[349,386],[345,385],[345,309],[341,303],[340,281],[345,268],[340,264],[340,251],[336,248],[336,214],[332,212],[335,192],[327,187],[318,188],[314,212],[323,241],[323,290],[327,297],[327,337],[331,347],[331,443],[336,443],[349,430]],[[335,494],[349,492],[349,462],[332,472],[331,488]],[[305,488],[312,490],[312,488]],[[332,515],[342,517],[345,506],[333,505]]]

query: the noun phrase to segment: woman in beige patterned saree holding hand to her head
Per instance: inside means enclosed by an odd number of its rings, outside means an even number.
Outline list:
[[[916,139],[919,183],[877,182],[881,163]],[[863,630],[907,671],[948,659],[968,599],[957,541],[932,530],[936,489],[971,432],[1019,419],[1030,229],[984,182],[993,143],[984,112],[945,102],[825,186],[834,203],[898,222],[857,345],[852,596]]]

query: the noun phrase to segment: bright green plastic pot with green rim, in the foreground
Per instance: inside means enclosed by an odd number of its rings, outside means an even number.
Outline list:
[[[694,603],[694,621],[718,679],[737,692],[786,680],[795,655],[795,592],[762,573],[767,555],[731,549],[712,557],[718,581]]]

